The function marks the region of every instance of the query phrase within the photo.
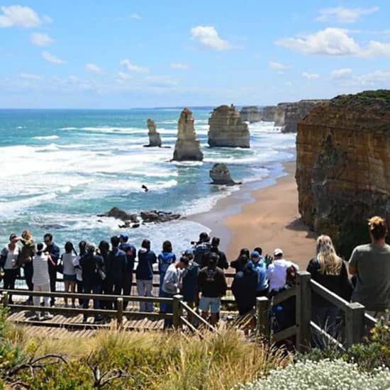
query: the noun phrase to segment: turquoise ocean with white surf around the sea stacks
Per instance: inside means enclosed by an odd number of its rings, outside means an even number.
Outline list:
[[[250,125],[250,149],[208,147],[211,109],[193,109],[203,162],[169,161],[179,108],[0,110],[0,244],[25,229],[36,242],[52,233],[61,248],[67,240],[97,244],[126,231],[138,246],[150,238],[158,251],[169,239],[175,252],[185,250],[208,231],[190,216],[211,210],[238,189],[210,185],[214,163],[225,162],[235,181],[249,182],[280,176],[283,162],[294,157],[296,136],[280,133],[274,123]],[[170,148],[143,147],[147,118]],[[123,230],[121,221],[97,217],[113,206],[129,213],[172,211],[189,219]]]

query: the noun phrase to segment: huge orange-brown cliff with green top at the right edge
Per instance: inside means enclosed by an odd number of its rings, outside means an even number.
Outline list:
[[[369,242],[367,218],[390,221],[390,91],[337,96],[298,126],[299,212],[346,257]]]

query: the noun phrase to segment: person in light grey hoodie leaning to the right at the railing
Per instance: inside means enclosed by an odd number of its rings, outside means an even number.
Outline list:
[[[169,265],[165,272],[164,282],[162,283],[161,296],[164,298],[173,298],[182,288],[181,274],[189,264],[188,257],[180,257],[180,260]],[[163,313],[173,313],[172,303],[165,303]],[[164,328],[172,327],[172,319],[165,319]]]

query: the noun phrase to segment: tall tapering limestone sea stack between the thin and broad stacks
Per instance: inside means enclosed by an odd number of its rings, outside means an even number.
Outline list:
[[[201,143],[196,138],[194,116],[189,108],[184,108],[180,114],[177,126],[177,141],[174,145],[173,160],[202,161]]]

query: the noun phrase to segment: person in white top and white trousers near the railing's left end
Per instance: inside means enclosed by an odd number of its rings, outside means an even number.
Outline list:
[[[44,249],[43,243],[37,244],[36,253],[33,257],[33,284],[34,291],[50,291],[50,275],[48,270],[48,248]],[[40,305],[41,296],[34,296],[34,306]],[[43,297],[43,305],[49,307],[49,297]],[[44,320],[50,320],[52,314],[45,312],[43,314]],[[40,321],[42,317],[40,316],[40,311],[36,312],[35,319]]]

